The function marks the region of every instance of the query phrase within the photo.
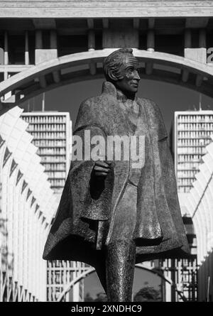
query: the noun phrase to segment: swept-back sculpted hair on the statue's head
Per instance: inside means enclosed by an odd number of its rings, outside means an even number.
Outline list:
[[[108,81],[112,81],[109,72],[114,75],[115,80],[123,79],[120,71],[121,65],[124,63],[126,54],[129,54],[131,57],[133,57],[132,52],[133,50],[131,48],[120,48],[119,50],[115,50],[104,59],[104,76]]]

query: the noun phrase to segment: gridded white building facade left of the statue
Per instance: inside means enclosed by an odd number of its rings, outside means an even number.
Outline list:
[[[68,112],[23,112],[21,118],[28,123],[27,131],[38,147],[38,156],[45,167],[50,187],[60,200],[70,168],[72,121]],[[58,201],[59,202],[59,201]]]

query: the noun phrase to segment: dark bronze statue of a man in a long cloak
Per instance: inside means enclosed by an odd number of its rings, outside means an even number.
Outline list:
[[[167,131],[158,106],[136,97],[132,52],[122,48],[105,58],[102,94],[80,106],[73,135],[82,140],[82,160],[72,158],[43,254],[94,266],[111,302],[131,301],[135,263],[188,252]],[[124,159],[133,148],[124,143],[123,158],[92,159],[88,146],[92,151],[94,139],[107,143],[110,136],[137,136],[141,163],[133,165],[131,153]]]

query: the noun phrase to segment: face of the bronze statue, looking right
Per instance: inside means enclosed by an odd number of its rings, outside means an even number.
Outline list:
[[[138,75],[138,66],[138,60],[135,57],[126,55],[120,70],[123,79],[116,81],[116,87],[124,94],[135,94],[138,91],[138,83],[141,79]]]

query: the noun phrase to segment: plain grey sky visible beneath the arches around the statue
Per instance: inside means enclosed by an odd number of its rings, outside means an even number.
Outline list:
[[[69,111],[72,126],[75,125],[77,111],[80,103],[88,97],[94,97],[101,93],[103,80],[89,80],[87,82],[77,82],[75,84],[59,87],[45,93],[45,111]],[[174,111],[187,109],[199,109],[200,94],[194,90],[186,89],[178,85],[172,85],[164,82],[153,80],[141,80],[138,87],[138,97],[152,99],[158,104],[163,114],[165,126],[170,131],[173,121]],[[23,104],[26,111],[30,109],[40,111],[42,109],[42,95],[31,99]],[[202,95],[202,109],[213,110],[213,100],[210,97]],[[160,278],[153,273],[141,271],[136,268],[133,285],[133,293],[143,288],[144,282],[158,288]],[[96,273],[84,279],[86,295],[89,292],[93,297],[96,293],[103,292]]]

